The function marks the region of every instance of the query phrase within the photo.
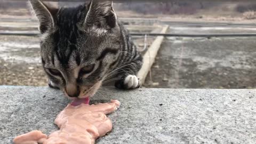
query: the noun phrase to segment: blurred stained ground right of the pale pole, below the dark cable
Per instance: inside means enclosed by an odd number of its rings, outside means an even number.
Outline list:
[[[256,37],[166,37],[148,87],[252,89],[256,87]]]

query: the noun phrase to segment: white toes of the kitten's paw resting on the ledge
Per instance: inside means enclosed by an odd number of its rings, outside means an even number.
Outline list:
[[[135,75],[128,75],[124,79],[126,89],[135,89],[140,86],[140,79]]]

